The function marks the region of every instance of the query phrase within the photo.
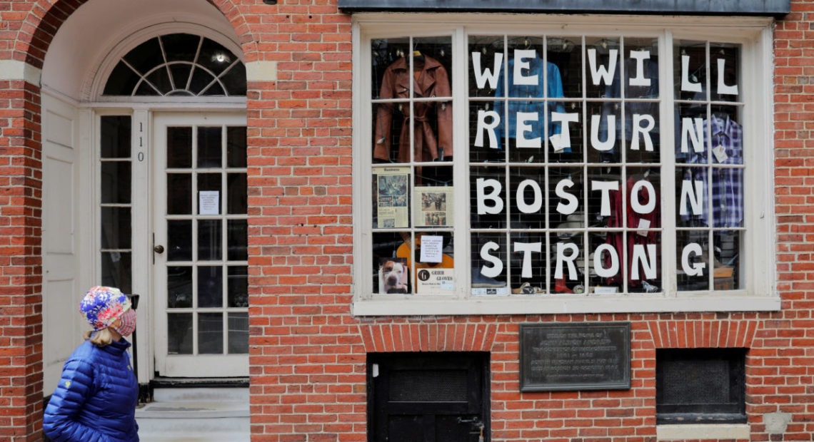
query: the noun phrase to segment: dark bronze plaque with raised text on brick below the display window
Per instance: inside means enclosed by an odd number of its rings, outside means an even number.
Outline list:
[[[520,324],[520,391],[630,388],[630,323]]]

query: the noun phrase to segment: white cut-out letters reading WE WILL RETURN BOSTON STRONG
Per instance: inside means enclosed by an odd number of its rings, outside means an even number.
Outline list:
[[[590,77],[593,85],[613,85],[615,81],[620,81],[619,76],[615,74],[615,69],[619,65],[619,51],[609,50],[608,60],[605,64],[600,63],[597,58],[597,50],[589,49],[588,65]],[[475,76],[475,85],[478,89],[497,89],[499,74],[502,72],[502,63],[504,54],[497,52],[493,54],[492,63],[493,69],[487,69],[481,64],[481,57],[479,52],[471,54],[472,72]],[[523,72],[532,71],[532,60],[536,58],[535,50],[514,50],[514,75],[511,77],[514,85],[538,85],[540,79],[536,74],[524,74]],[[630,51],[630,58],[632,63],[632,72],[630,74],[630,85],[636,86],[650,86],[651,80],[646,75],[644,62],[651,58],[649,50],[632,50]],[[718,76],[713,81],[714,91],[719,95],[729,95],[737,97],[739,88],[737,84],[728,84],[724,80],[724,72],[727,72],[726,60],[724,58],[715,58],[712,60],[718,67]],[[700,93],[702,85],[693,80],[692,74],[689,72],[691,60],[689,55],[681,56],[681,91]],[[517,111],[512,115],[510,121],[514,121],[515,127],[512,133],[515,134],[517,146],[519,148],[528,148],[540,150],[544,147],[542,137],[533,135],[534,126],[542,121],[545,116],[537,112],[521,112]],[[600,141],[598,133],[599,127],[602,124],[602,118],[606,119],[605,127],[609,130],[609,135],[605,141]],[[558,124],[561,131],[549,137],[549,142],[554,152],[571,149],[571,126],[580,124],[579,112],[551,112],[550,119],[554,124]],[[488,147],[489,149],[499,149],[499,139],[497,128],[501,126],[501,115],[494,110],[485,111],[479,110],[476,117],[477,127],[475,133],[475,147]],[[632,141],[630,149],[633,151],[647,150],[654,151],[654,140],[650,132],[655,128],[654,115],[636,114],[632,115]],[[616,141],[615,128],[616,120],[615,115],[590,115],[590,124],[582,122],[584,125],[582,131],[590,133],[590,145],[594,150],[599,152],[606,152],[614,149]],[[575,129],[576,130],[576,129]],[[702,119],[681,119],[681,153],[689,154],[692,150],[695,154],[703,154],[704,152],[704,125]],[[529,135],[532,134],[532,135]],[[727,159],[725,152],[718,150],[716,152],[716,160],[718,163],[724,163]],[[648,173],[646,172],[641,176],[629,190],[627,197],[630,209],[637,215],[640,215],[640,223],[637,226],[637,234],[641,236],[648,235],[648,228],[650,228],[650,221],[647,219],[657,210],[656,202],[659,197],[656,193],[654,184],[648,180]],[[504,189],[501,181],[494,179],[478,178],[474,183],[475,201],[477,215],[500,215],[503,213],[506,204]],[[685,215],[702,215],[703,207],[703,182],[700,180],[682,180],[681,182],[681,216]],[[556,207],[560,215],[573,215],[579,208],[579,200],[575,195],[569,192],[569,189],[575,187],[574,181],[570,178],[562,178],[556,184],[554,193],[560,199]],[[591,180],[589,189],[592,192],[599,192],[601,196],[601,204],[599,215],[607,217],[611,215],[610,193],[619,192],[624,189],[624,182],[619,180]],[[534,214],[543,210],[545,203],[545,188],[544,185],[535,180],[523,180],[518,184],[515,191],[515,196],[510,201],[514,204],[513,212],[521,214]],[[642,199],[642,197],[644,197]],[[689,207],[688,207],[689,206]],[[540,254],[543,251],[542,242],[521,242],[516,241],[512,245],[511,252],[519,254],[523,257],[523,267],[521,271],[522,278],[531,278],[532,269],[532,254]],[[485,262],[489,262],[491,267],[483,267],[480,273],[488,278],[497,278],[502,274],[503,262],[501,256],[505,255],[505,250],[500,250],[501,246],[494,241],[488,241],[481,246],[480,258]],[[597,272],[598,276],[602,278],[614,278],[620,272],[620,254],[622,250],[615,248],[612,244],[598,245],[593,250],[593,269]],[[704,267],[706,264],[698,261],[696,258],[702,256],[702,245],[697,242],[692,242],[682,249],[681,251],[681,269],[686,275],[701,276],[703,275]],[[567,271],[569,280],[578,279],[578,271],[576,267],[576,260],[580,255],[580,246],[573,242],[558,242],[556,254],[556,266],[554,268],[554,278],[561,280],[564,278]],[[632,245],[632,274],[631,280],[654,280],[657,278],[658,267],[658,249],[655,244],[635,244]],[[641,273],[640,273],[641,268]]]

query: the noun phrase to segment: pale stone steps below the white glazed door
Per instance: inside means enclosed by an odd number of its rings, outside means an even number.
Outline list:
[[[248,442],[248,388],[156,388],[136,410],[142,442]]]

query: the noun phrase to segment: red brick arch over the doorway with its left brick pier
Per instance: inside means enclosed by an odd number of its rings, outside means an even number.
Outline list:
[[[17,2],[0,11],[0,440],[42,439],[42,102],[38,80],[59,28],[86,0]],[[247,61],[256,43],[238,6],[208,0],[230,22]],[[22,74],[24,72],[24,75]],[[9,79],[11,77],[11,79]],[[19,78],[18,78],[19,77]]]

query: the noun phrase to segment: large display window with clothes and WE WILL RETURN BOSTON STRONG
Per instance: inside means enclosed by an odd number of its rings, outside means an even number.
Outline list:
[[[770,295],[765,27],[359,25],[360,304]]]

